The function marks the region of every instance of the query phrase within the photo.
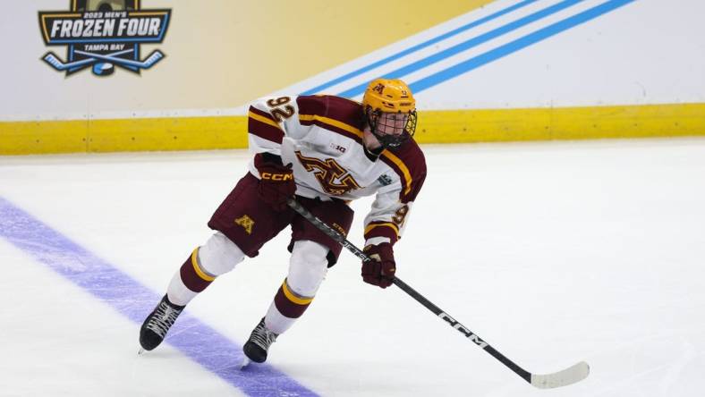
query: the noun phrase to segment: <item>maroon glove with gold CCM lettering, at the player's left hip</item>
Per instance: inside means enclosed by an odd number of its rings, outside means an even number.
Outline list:
[[[272,157],[279,160],[268,161]],[[275,211],[283,211],[288,206],[286,200],[291,199],[296,192],[296,183],[293,182],[292,165],[282,165],[279,156],[257,156],[255,167],[259,171],[259,186],[257,195],[260,200],[267,203]]]

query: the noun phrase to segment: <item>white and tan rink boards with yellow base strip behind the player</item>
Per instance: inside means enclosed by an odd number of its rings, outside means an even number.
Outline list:
[[[325,93],[360,100],[380,75],[410,84],[422,143],[705,135],[701,2],[442,5],[400,12],[394,4],[366,4],[376,14],[310,4],[315,13],[250,7],[229,14],[233,4],[225,2],[224,15],[235,16],[221,21],[204,17],[198,5],[179,4],[163,43],[142,50],[163,50],[166,58],[139,75],[118,69],[107,77],[88,70],[63,76],[38,60],[47,49],[64,56],[61,47],[13,41],[8,51],[31,57],[4,65],[4,85],[14,94],[0,108],[0,154],[245,148],[254,98]],[[37,11],[13,7],[20,15]],[[253,30],[275,11],[312,20]],[[382,15],[387,29],[370,28],[370,15]],[[39,34],[21,18],[6,22],[20,37]],[[189,36],[205,22],[227,40]],[[289,36],[298,45],[285,45]]]

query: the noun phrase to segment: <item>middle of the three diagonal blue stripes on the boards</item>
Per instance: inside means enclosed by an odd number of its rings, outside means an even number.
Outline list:
[[[419,61],[416,61],[414,63],[410,63],[406,66],[403,66],[402,68],[399,68],[393,72],[388,72],[384,73],[384,77],[386,79],[399,79],[409,73],[419,71],[420,69],[423,69],[433,63],[437,63],[440,61],[443,61],[446,58],[449,58],[453,55],[457,55],[462,53],[463,51],[469,50],[472,47],[475,46],[480,46],[480,44],[487,43],[489,40],[493,38],[498,38],[500,36],[504,36],[505,34],[517,30],[519,28],[522,28],[530,23],[533,23],[535,21],[539,21],[540,19],[546,18],[550,15],[553,15],[554,13],[558,13],[560,11],[565,10],[568,7],[571,7],[575,4],[582,3],[584,0],[565,0],[561,3],[558,4],[553,4],[551,6],[548,6],[544,8],[543,10],[537,11],[536,13],[532,13],[530,15],[527,15],[519,20],[509,22],[505,24],[504,26],[501,26],[497,28],[496,30],[490,30],[487,33],[483,33],[480,36],[477,36],[475,38],[470,38],[466,41],[463,41],[463,43],[457,44],[455,46],[452,46],[450,48],[446,48],[445,50],[434,54],[434,55],[429,55],[426,58],[420,59]],[[355,97],[360,95],[365,91],[365,88],[367,87],[367,82],[360,84],[358,86],[353,87],[352,89],[346,89],[340,94],[338,94],[340,97]]]

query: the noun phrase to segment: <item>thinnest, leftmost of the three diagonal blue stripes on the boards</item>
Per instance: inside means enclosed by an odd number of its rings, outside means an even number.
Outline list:
[[[513,11],[515,11],[515,10],[518,10],[518,9],[520,9],[520,8],[522,8],[522,7],[524,7],[524,6],[526,6],[526,5],[529,5],[529,4],[531,4],[531,3],[536,3],[537,1],[539,1],[539,0],[524,0],[524,1],[522,1],[521,3],[514,4],[514,5],[510,6],[510,7],[505,8],[504,10],[498,11],[497,13],[493,13],[493,14],[491,14],[491,15],[488,15],[488,16],[484,17],[484,18],[481,18],[481,19],[478,20],[478,21],[473,21],[473,22],[471,22],[471,23],[468,23],[468,24],[466,24],[466,25],[461,26],[460,28],[456,28],[456,29],[451,30],[451,31],[449,31],[449,32],[447,32],[447,33],[444,33],[444,34],[438,36],[437,38],[431,38],[431,39],[429,39],[429,40],[427,40],[427,41],[424,41],[423,43],[417,44],[416,46],[412,46],[412,47],[410,47],[410,48],[407,48],[407,49],[403,50],[402,52],[399,52],[399,53],[397,53],[397,54],[395,54],[395,55],[389,55],[389,56],[387,56],[386,58],[384,58],[384,59],[382,59],[382,60],[380,60],[380,61],[378,61],[378,62],[371,63],[371,64],[369,64],[369,65],[367,65],[367,66],[364,66],[364,67],[362,67],[361,69],[358,69],[358,70],[356,70],[356,71],[353,71],[353,72],[349,72],[349,73],[347,73],[347,74],[344,74],[343,76],[340,76],[340,77],[337,77],[336,79],[327,81],[327,82],[325,82],[325,83],[323,83],[323,84],[321,84],[321,85],[319,85],[319,86],[317,86],[317,87],[314,87],[314,88],[312,88],[312,89],[307,89],[306,91],[302,92],[301,95],[312,95],[312,94],[316,94],[316,93],[320,92],[320,91],[323,90],[323,89],[327,89],[328,87],[335,86],[336,84],[341,83],[341,82],[343,82],[343,81],[345,81],[345,80],[349,80],[349,79],[352,79],[352,78],[355,77],[355,76],[359,76],[359,75],[361,75],[361,74],[364,73],[364,72],[369,72],[369,71],[371,71],[372,69],[378,68],[379,66],[382,66],[383,64],[386,64],[386,63],[390,63],[390,62],[392,62],[392,61],[395,61],[396,59],[399,59],[399,58],[401,58],[401,57],[403,57],[403,56],[412,54],[412,53],[414,53],[414,52],[416,52],[416,51],[419,51],[420,49],[425,48],[425,47],[427,47],[427,46],[434,45],[434,44],[436,44],[436,43],[439,42],[439,41],[445,40],[446,38],[451,38],[451,37],[457,35],[458,33],[462,33],[462,32],[465,31],[465,30],[470,30],[470,29],[475,28],[475,27],[477,27],[477,26],[480,26],[480,25],[482,25],[482,24],[484,24],[484,23],[487,23],[488,21],[495,20],[495,19],[501,17],[502,15],[505,15],[505,14],[507,14],[507,13],[511,13],[511,12],[513,12]]]

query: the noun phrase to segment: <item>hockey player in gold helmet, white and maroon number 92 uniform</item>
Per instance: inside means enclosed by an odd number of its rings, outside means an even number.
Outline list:
[[[364,250],[375,260],[362,264],[361,275],[366,283],[391,285],[393,247],[426,177],[415,129],[416,102],[402,80],[371,81],[361,104],[299,96],[252,105],[250,170],[208,222],[216,232],[186,259],[144,320],[142,349],[156,348],[189,301],[291,225],[288,275],[243,346],[252,361],[267,359],[269,346],[310,306],[342,249],[288,207],[287,199],[347,234],[353,222],[348,202],[376,194],[364,229]]]

